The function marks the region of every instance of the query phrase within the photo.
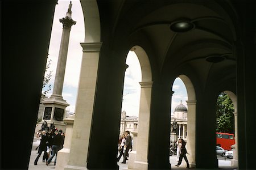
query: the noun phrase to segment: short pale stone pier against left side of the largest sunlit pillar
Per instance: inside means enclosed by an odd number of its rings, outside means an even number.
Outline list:
[[[55,167],[56,169],[64,169],[64,167],[68,164],[71,139],[73,134],[74,118],[64,118],[63,121],[65,124],[67,124],[67,128],[65,131],[64,147],[58,152],[58,160]]]

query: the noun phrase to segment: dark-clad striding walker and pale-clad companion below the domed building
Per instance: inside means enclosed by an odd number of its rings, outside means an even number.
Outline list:
[[[177,164],[176,167],[179,167],[179,165],[182,162],[182,159],[184,158],[185,162],[187,163],[187,168],[189,168],[188,158],[186,154],[188,154],[187,149],[185,147],[186,142],[183,139],[179,139],[177,141]]]

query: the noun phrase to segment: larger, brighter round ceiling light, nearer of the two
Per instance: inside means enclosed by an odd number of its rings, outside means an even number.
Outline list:
[[[195,28],[195,24],[188,20],[179,20],[171,23],[170,29],[174,32],[187,32]]]

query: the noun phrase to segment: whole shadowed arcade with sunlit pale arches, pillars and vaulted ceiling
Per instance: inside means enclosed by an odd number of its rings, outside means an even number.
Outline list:
[[[117,141],[129,50],[137,54],[142,70],[130,169],[171,169],[171,89],[177,76],[188,93],[191,167],[218,168],[216,100],[224,91],[237,115],[235,166],[256,168],[256,146],[251,144],[256,135],[255,1],[80,2],[85,39],[63,169],[119,169]],[[56,4],[1,1],[1,169],[28,167]],[[21,91],[22,100],[15,100]],[[19,152],[13,147],[17,139]],[[6,156],[10,153],[15,153],[12,159]]]

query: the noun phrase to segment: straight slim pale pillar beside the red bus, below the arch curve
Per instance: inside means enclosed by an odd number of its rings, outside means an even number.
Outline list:
[[[235,145],[233,148],[233,159],[231,160],[231,166],[232,167],[238,167],[238,154],[237,154],[237,149],[238,149],[238,133],[237,133],[237,112],[233,112],[234,114],[234,129],[235,129]]]

